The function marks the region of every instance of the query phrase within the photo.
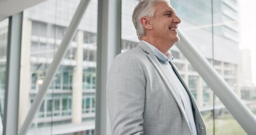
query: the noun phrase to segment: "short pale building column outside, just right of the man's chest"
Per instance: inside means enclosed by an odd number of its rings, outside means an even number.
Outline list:
[[[198,107],[203,107],[203,79],[199,76],[196,80],[196,101]]]

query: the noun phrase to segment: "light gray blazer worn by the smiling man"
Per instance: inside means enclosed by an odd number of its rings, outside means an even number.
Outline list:
[[[174,71],[191,98],[197,134],[206,134],[191,92],[175,68]],[[106,89],[113,135],[191,134],[172,81],[145,43],[115,57]]]

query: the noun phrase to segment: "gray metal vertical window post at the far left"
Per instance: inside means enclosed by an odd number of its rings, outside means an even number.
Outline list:
[[[3,134],[17,134],[23,12],[9,18]]]

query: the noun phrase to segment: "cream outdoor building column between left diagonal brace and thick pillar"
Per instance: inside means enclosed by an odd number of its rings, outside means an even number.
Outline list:
[[[82,123],[83,98],[83,31],[77,33],[77,51],[74,56],[77,66],[73,70],[72,123]]]

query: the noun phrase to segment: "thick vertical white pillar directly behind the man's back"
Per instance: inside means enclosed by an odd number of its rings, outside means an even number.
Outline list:
[[[96,135],[111,134],[106,104],[106,79],[110,65],[121,48],[121,2],[98,1]]]

